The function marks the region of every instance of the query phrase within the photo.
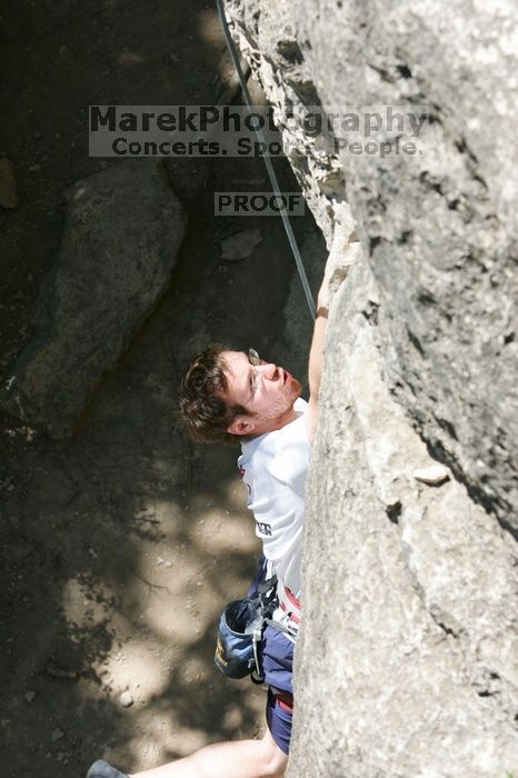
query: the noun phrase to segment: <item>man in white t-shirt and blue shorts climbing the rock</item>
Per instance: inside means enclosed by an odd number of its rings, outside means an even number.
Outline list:
[[[339,212],[339,210],[338,210]],[[347,220],[346,220],[347,222]],[[329,281],[349,235],[336,221],[335,238],[318,292],[309,355],[309,401],[285,368],[257,351],[212,345],[186,369],[179,391],[180,416],[200,442],[237,441],[238,467],[248,487],[248,508],[262,541],[268,575],[277,577],[272,620],[262,634],[260,656],[268,686],[267,729],[260,740],[206,746],[188,757],[132,774],[133,778],[260,778],[283,776],[293,711],[293,644],[301,606],[303,493],[318,418],[318,393],[329,310]],[[104,760],[87,778],[128,778]]]

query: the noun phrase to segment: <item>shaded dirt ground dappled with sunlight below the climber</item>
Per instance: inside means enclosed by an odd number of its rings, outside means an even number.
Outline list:
[[[197,0],[7,0],[0,34],[0,156],[20,198],[0,209],[3,383],[32,333],[63,191],[107,164],[88,157],[88,106],[212,104],[230,69],[216,11]],[[286,320],[293,261],[280,220],[212,215],[215,190],[269,188],[262,161],[183,160],[168,171],[191,192],[170,290],[73,438],[52,442],[0,417],[6,778],[78,778],[100,756],[136,771],[262,731],[262,689],[212,665],[219,614],[246,590],[259,551],[239,451],[185,438],[176,387],[213,339],[300,371],[310,321]],[[252,257],[220,259],[222,238],[256,227]],[[296,230],[321,251],[309,218]]]

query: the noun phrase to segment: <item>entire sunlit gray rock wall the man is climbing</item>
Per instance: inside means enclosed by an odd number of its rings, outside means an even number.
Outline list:
[[[430,112],[412,159],[337,156],[285,128],[328,242],[346,198],[363,247],[330,320],[289,772],[504,776],[518,765],[518,11],[227,9],[275,104]],[[435,462],[448,480],[416,479]]]

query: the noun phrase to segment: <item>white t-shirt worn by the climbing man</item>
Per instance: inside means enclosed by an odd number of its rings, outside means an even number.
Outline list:
[[[262,541],[269,573],[296,598],[300,598],[303,492],[311,458],[306,430],[306,400],[293,406],[297,419],[281,429],[241,443],[238,467],[248,487],[247,507],[256,519],[256,535]]]

